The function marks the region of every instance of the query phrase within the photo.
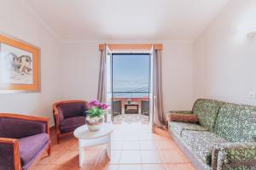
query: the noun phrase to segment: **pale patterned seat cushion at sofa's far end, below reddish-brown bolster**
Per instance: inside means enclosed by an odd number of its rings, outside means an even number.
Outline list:
[[[182,136],[184,130],[207,131],[207,128],[189,122],[169,122],[169,129],[179,137]]]

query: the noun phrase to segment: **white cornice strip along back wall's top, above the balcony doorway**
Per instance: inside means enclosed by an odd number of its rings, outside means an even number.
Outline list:
[[[125,39],[88,39],[88,40],[67,40],[61,41],[62,44],[70,43],[194,43],[194,40],[183,40],[183,39],[156,39],[156,40],[125,40]]]

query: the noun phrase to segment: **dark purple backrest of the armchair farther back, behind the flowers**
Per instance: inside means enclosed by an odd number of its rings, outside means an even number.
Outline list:
[[[82,116],[82,113],[86,111],[83,102],[62,103],[57,108],[60,111],[60,121],[69,117]]]

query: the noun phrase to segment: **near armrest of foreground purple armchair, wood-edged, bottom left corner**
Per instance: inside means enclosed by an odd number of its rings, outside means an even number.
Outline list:
[[[0,169],[21,169],[18,139],[0,138]]]

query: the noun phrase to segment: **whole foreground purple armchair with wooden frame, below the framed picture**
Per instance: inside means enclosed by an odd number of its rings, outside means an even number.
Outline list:
[[[32,169],[50,155],[49,118],[0,113],[0,169]]]

